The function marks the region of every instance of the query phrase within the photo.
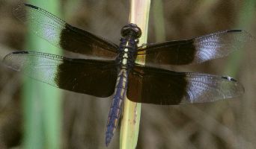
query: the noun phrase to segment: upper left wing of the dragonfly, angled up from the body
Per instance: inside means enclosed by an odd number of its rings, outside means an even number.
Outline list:
[[[118,45],[73,27],[40,7],[20,4],[13,13],[22,22],[27,22],[34,34],[66,51],[106,58],[117,55]]]

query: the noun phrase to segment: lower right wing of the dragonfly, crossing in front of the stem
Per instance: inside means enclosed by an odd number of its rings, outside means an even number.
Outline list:
[[[172,105],[235,98],[243,92],[231,77],[135,66],[129,73],[127,97],[139,103]]]

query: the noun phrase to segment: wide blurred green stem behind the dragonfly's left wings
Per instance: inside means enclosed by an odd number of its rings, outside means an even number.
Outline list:
[[[58,15],[58,0],[28,1],[29,4],[37,5],[49,12]],[[43,20],[42,20],[43,21]],[[29,24],[28,24],[28,29]],[[27,49],[40,51],[43,49],[58,51],[49,42],[37,37],[33,31],[29,31],[27,38]],[[46,51],[47,52],[47,51]],[[58,54],[58,52],[55,52]],[[25,77],[23,89],[23,109],[24,109],[24,140],[23,148],[60,148],[61,139],[61,94],[54,87],[44,83],[31,80]]]

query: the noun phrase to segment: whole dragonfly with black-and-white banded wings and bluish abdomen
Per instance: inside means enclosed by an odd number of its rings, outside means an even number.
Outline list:
[[[89,58],[14,51],[4,57],[4,65],[60,89],[100,98],[112,96],[106,146],[118,127],[126,96],[137,103],[177,105],[243,95],[243,85],[233,77],[174,72],[160,66],[186,66],[226,57],[252,39],[246,31],[219,31],[192,39],[138,46],[141,29],[129,23],[121,28],[117,45],[31,4],[20,4],[13,11],[39,37],[64,51]],[[141,56],[145,57],[144,65],[136,61]]]

